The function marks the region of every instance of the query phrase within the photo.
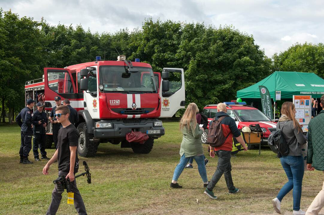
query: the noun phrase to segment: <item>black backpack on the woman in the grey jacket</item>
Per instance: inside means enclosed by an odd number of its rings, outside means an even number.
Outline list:
[[[288,122],[286,122],[284,126]],[[284,136],[281,134],[284,126],[280,128],[279,124],[279,130],[271,132],[268,137],[268,145],[270,146],[271,150],[278,155],[278,157],[286,156],[289,153],[289,145],[286,143]]]

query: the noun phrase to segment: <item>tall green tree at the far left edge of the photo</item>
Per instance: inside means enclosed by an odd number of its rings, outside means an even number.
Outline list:
[[[41,77],[45,50],[38,22],[3,10],[0,20],[0,94],[8,108],[9,123],[12,123],[14,110],[25,104],[25,81]]]

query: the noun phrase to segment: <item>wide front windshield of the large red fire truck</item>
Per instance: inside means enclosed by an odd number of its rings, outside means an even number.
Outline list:
[[[153,71],[148,67],[134,67],[138,72],[128,72],[124,66],[100,66],[100,84],[103,91],[157,93]],[[123,73],[129,73],[122,75]]]

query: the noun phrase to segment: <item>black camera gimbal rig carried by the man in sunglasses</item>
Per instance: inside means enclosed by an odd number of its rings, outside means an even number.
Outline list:
[[[81,173],[81,174],[75,176],[74,178],[86,175],[88,184],[91,184],[91,173],[89,172],[90,169],[89,169],[89,167],[87,165],[87,162],[83,161],[83,165],[84,165],[84,169],[86,170],[86,172]],[[63,193],[64,189],[66,189],[66,192],[71,192],[72,191],[72,187],[70,186],[71,185],[70,184],[70,179],[69,178],[65,179],[65,177],[66,177],[66,175],[60,175],[59,177],[57,177],[53,181],[53,183],[56,184],[57,191],[59,193]]]

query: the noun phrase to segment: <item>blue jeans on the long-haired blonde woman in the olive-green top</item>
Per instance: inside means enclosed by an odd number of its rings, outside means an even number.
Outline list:
[[[180,161],[174,170],[172,180],[178,181],[180,174],[182,173],[184,167],[186,167],[190,158],[191,157],[185,157],[184,154],[180,157]],[[196,163],[198,164],[198,171],[200,176],[203,179],[203,182],[207,182],[208,179],[207,179],[206,167],[204,162],[205,161],[204,155],[192,156],[192,158],[195,159]]]

